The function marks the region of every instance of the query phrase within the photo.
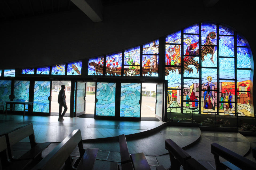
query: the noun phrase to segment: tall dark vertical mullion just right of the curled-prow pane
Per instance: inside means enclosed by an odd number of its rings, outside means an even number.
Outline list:
[[[217,115],[219,115],[219,24],[217,24]]]

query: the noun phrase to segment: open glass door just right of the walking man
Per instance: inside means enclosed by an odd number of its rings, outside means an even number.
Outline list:
[[[76,112],[75,117],[85,114],[86,83],[77,81],[76,85]]]

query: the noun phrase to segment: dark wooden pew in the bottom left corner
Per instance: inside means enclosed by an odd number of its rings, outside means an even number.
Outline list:
[[[21,160],[21,161],[15,161],[15,162],[10,162],[8,160],[8,156],[7,156],[7,144],[6,144],[6,138],[5,136],[1,136],[0,137],[0,169],[4,170],[4,169],[13,169],[13,170],[17,170],[17,169],[21,169],[23,170],[24,168],[26,168],[31,162],[32,159],[27,159],[27,160]]]

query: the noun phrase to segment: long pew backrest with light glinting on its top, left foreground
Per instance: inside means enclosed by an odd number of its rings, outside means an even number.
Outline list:
[[[80,129],[70,133],[58,146],[56,146],[48,155],[45,156],[32,170],[58,170],[62,167],[65,161],[70,157],[75,147],[82,144]],[[80,157],[81,157],[80,153]],[[83,155],[82,155],[83,156]]]

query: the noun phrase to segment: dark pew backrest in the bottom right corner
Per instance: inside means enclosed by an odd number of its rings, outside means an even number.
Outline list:
[[[226,159],[230,163],[234,164],[238,168],[241,169],[256,169],[256,163],[252,162],[249,159],[246,159],[245,157],[217,144],[212,143],[211,144],[211,153],[214,155],[216,166],[219,162],[218,156],[221,156],[222,158]],[[217,158],[217,160],[216,160]]]

